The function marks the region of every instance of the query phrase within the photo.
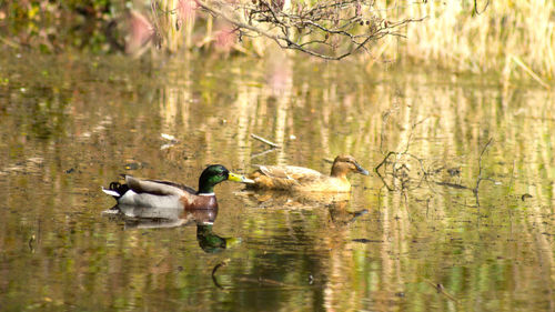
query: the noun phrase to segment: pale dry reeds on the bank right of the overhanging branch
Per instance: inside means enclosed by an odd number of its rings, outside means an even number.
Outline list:
[[[442,0],[413,2],[389,11],[392,19],[427,17],[410,24],[389,57],[475,73],[532,77],[544,87],[555,76],[555,1]],[[401,48],[401,49],[400,49]]]

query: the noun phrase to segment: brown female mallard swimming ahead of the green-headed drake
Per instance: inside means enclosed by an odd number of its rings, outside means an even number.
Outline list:
[[[294,165],[256,165],[258,170],[249,175],[254,183],[248,188],[262,190],[285,190],[294,192],[349,192],[351,172],[369,175],[351,155],[339,155],[333,161],[330,175],[315,170]]]

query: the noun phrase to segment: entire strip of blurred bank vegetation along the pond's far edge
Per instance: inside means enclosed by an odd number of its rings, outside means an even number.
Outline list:
[[[275,47],[326,59],[411,61],[462,72],[555,76],[553,1],[7,1],[0,40],[59,52],[270,53]]]

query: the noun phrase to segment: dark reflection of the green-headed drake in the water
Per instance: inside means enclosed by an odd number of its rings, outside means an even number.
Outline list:
[[[218,207],[209,209],[152,208],[115,205],[103,212],[114,221],[123,221],[124,229],[162,229],[196,225],[196,241],[206,253],[220,252],[241,242],[240,238],[222,238],[213,232]]]

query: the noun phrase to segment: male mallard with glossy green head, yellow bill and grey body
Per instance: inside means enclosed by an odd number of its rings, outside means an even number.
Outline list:
[[[199,191],[193,188],[169,181],[142,180],[131,175],[125,177],[125,184],[110,183],[102,191],[112,195],[118,204],[178,208],[178,209],[214,209],[218,201],[214,187],[225,180],[253,183],[243,175],[230,172],[221,164],[209,165],[199,178]]]

